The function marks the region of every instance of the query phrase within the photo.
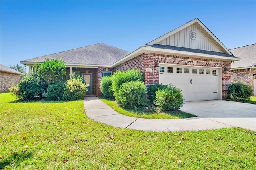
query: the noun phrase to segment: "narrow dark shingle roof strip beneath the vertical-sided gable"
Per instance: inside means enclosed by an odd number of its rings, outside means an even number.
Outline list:
[[[234,58],[236,58],[233,55],[228,55],[228,54],[225,54],[225,53],[214,52],[214,51],[206,51],[206,50],[201,50],[201,49],[176,47],[176,46],[162,45],[162,44],[154,44],[154,45],[148,45],[148,46],[155,47],[155,48],[162,48],[162,49],[172,49],[172,50],[177,50],[177,51],[187,51],[187,52],[192,52],[192,53],[202,53],[202,54],[210,54],[210,55],[218,55],[218,56],[223,56],[223,57],[234,57]]]

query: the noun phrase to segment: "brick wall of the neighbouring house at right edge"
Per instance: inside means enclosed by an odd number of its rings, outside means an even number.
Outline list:
[[[238,70],[231,70],[231,83],[244,83],[249,85],[252,88],[254,94],[254,76],[253,74],[256,72],[256,69],[238,69]]]

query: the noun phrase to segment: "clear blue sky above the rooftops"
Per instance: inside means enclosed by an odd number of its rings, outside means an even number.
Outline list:
[[[134,51],[199,18],[228,48],[256,43],[255,1],[1,1],[1,63],[95,43]]]

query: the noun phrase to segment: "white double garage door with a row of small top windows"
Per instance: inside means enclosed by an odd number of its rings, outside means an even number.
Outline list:
[[[185,101],[218,99],[218,69],[162,65],[159,83],[181,89]]]

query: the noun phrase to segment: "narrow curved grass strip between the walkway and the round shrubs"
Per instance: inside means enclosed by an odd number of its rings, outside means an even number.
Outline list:
[[[196,117],[196,115],[186,113],[186,112],[170,112],[170,113],[155,113],[150,111],[138,111],[136,109],[124,109],[120,107],[115,101],[108,100],[101,98],[101,100],[112,107],[118,113],[121,113],[126,116],[131,117],[140,117],[140,118],[147,118],[147,119],[181,119],[181,118],[189,118],[189,117]],[[146,110],[146,109],[145,109]]]

